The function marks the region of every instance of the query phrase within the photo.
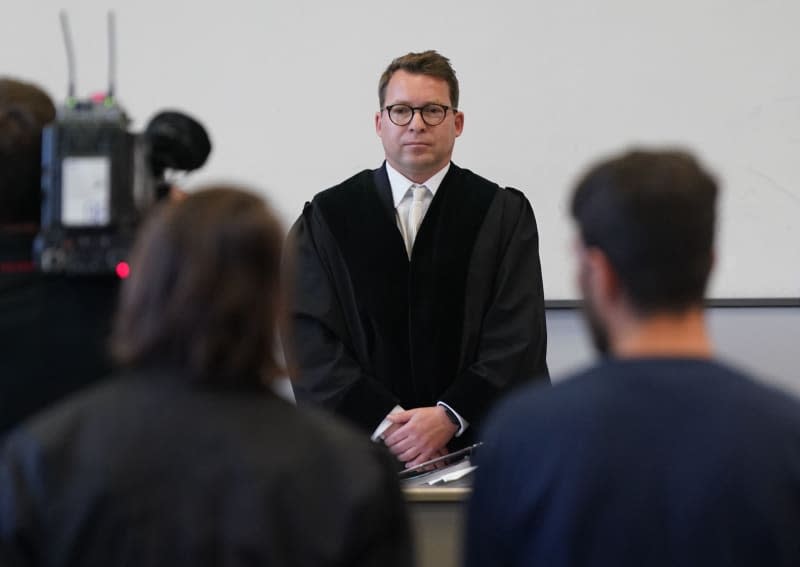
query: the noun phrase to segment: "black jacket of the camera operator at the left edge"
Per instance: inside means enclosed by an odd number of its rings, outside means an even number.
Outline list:
[[[37,273],[32,241],[0,231],[0,437],[110,371],[118,279]]]

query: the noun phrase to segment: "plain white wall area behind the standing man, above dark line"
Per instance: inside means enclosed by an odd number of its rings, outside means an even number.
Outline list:
[[[695,149],[723,182],[713,297],[800,296],[800,2],[6,2],[0,73],[57,101],[61,8],[80,95],[105,88],[113,8],[134,126],[167,107],[197,116],[214,153],[190,186],[251,184],[287,225],[314,193],[380,163],[378,76],[433,48],[461,82],[454,161],[528,195],[547,299],[576,296],[571,184],[633,143]]]

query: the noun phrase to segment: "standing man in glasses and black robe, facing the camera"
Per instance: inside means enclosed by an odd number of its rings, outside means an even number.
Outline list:
[[[547,380],[528,200],[451,163],[464,115],[449,61],[395,59],[379,83],[386,161],[307,204],[292,230],[295,394],[408,466],[467,445],[512,386]]]

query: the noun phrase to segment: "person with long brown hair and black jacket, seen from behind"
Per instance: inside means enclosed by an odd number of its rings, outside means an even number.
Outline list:
[[[113,336],[124,370],[8,438],[0,563],[412,564],[389,453],[270,389],[282,235],[231,187],[146,221]]]

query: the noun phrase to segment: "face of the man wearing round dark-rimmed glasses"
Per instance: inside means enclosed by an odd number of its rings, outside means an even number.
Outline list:
[[[386,85],[384,108],[393,104],[422,107],[429,103],[452,106],[443,79],[397,71]],[[464,128],[464,115],[447,111],[444,121],[428,126],[419,111],[411,122],[397,126],[386,110],[375,115],[375,131],[381,138],[386,161],[412,181],[422,183],[450,162],[453,145]]]

